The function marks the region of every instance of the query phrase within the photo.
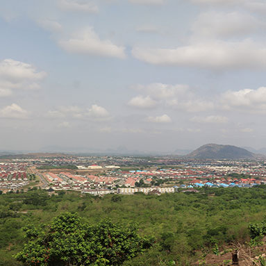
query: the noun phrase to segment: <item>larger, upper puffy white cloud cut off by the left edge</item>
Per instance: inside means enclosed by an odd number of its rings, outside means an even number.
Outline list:
[[[40,89],[40,82],[46,76],[45,72],[37,72],[29,64],[13,59],[0,61],[0,97],[13,94],[13,90]]]

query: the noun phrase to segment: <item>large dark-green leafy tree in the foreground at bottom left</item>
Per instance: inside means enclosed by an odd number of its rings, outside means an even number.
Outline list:
[[[28,242],[15,258],[28,266],[122,265],[152,244],[133,225],[124,228],[109,219],[90,225],[72,213],[24,231]]]

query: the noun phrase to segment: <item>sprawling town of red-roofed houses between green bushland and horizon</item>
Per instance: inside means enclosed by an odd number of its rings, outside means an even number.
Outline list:
[[[32,154],[3,157],[3,193],[40,188],[82,194],[162,194],[197,188],[251,188],[266,183],[266,163],[256,160],[196,160],[175,156],[72,156]]]

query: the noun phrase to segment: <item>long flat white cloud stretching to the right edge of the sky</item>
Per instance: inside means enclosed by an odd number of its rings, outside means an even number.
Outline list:
[[[153,65],[181,65],[207,69],[245,69],[266,67],[264,44],[206,41],[176,49],[144,49],[135,47],[133,56]]]

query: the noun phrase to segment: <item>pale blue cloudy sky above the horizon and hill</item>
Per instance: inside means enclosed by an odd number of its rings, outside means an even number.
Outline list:
[[[266,147],[264,0],[1,0],[0,150]]]

